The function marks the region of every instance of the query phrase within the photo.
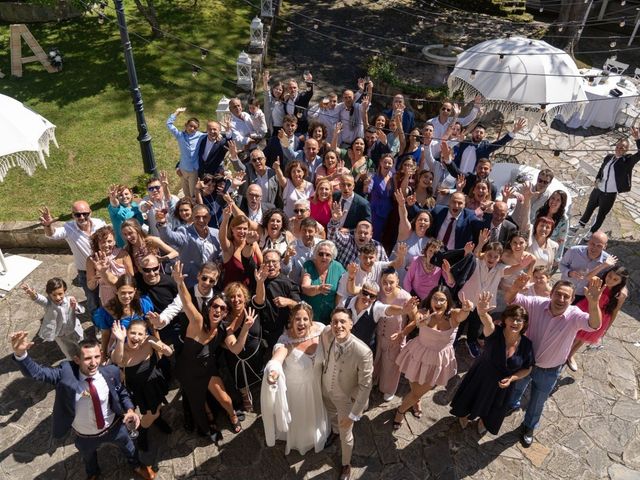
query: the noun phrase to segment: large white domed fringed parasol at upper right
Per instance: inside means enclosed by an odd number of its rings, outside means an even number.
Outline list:
[[[542,40],[499,38],[479,43],[458,55],[448,80],[451,92],[465,101],[478,93],[490,108],[505,113],[522,106],[567,118],[580,111],[587,96],[575,62],[566,52]]]

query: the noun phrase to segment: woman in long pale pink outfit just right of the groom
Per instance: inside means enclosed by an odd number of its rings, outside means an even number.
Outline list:
[[[382,272],[380,279],[382,291],[378,298],[386,305],[404,306],[411,298],[409,292],[400,288],[400,279],[395,269],[389,268]],[[400,369],[396,365],[396,358],[400,349],[405,346],[405,339],[400,335],[406,326],[406,319],[402,315],[381,317],[376,327],[376,356],[373,360],[373,379],[378,382],[378,389],[384,396],[384,401],[393,400],[398,382]]]

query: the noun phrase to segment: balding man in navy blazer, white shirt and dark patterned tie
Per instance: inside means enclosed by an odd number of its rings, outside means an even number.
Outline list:
[[[433,223],[430,235],[442,241],[447,250],[462,249],[467,242],[473,241],[474,230],[482,225],[482,220],[476,217],[473,210],[464,208],[465,198],[462,192],[451,195],[449,205],[436,205],[431,210]],[[453,220],[448,238],[447,230]],[[447,240],[445,242],[445,240]]]

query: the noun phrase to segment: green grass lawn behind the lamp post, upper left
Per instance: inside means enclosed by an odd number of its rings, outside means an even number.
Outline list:
[[[150,39],[150,28],[127,2],[130,32]],[[249,42],[255,12],[240,0],[160,0],[162,30],[207,48],[200,50],[172,38],[150,43],[131,36],[144,111],[159,169],[173,171],[178,148],[165,127],[169,113],[186,106],[188,116],[215,117],[220,97],[235,91],[235,61]],[[39,64],[25,65],[23,77],[10,76],[9,27],[0,25],[0,93],[14,97],[54,123],[59,149],[52,146],[47,169],[33,177],[13,168],[0,183],[0,221],[37,218],[47,204],[54,215],[67,214],[75,199],[86,199],[95,215],[108,218],[106,191],[111,183],[133,184],[143,174],[136,119],[115,11],[99,25],[93,15],[58,24],[32,24],[40,45],[58,47],[64,70],[49,74]],[[23,44],[23,55],[30,55]],[[190,63],[203,67],[192,76]],[[206,71],[204,71],[206,70]],[[182,127],[184,120],[179,120]],[[175,177],[175,175],[171,175]],[[177,187],[177,181],[175,182]]]

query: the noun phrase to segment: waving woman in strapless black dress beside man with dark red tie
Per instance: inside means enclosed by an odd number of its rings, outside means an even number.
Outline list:
[[[171,433],[171,427],[160,418],[160,407],[167,403],[165,395],[169,385],[158,368],[158,356],[170,356],[173,349],[150,336],[147,322],[141,319],[132,320],[128,328],[116,320],[111,334],[116,339],[111,360],[124,368],[125,385],[142,414],[138,447],[147,450],[147,431],[152,424],[164,433]]]

